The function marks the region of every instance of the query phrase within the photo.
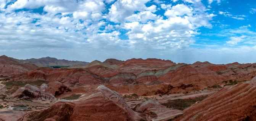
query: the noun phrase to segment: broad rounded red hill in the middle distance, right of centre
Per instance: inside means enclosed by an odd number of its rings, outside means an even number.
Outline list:
[[[209,85],[214,85],[222,82],[225,78],[218,75],[216,72],[203,67],[193,67],[187,65],[170,71],[159,78],[160,81],[177,84],[193,84],[200,89],[204,89]]]

